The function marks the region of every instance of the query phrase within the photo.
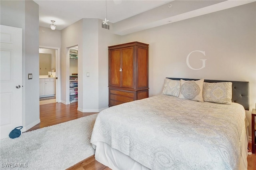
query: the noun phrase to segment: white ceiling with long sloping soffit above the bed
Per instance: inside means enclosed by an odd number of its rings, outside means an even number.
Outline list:
[[[39,26],[55,20],[62,30],[82,18],[106,17],[114,34],[125,35],[164,24],[255,2],[255,0],[34,0]]]

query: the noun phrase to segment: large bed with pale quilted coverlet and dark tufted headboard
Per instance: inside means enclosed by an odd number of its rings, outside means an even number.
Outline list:
[[[169,94],[167,81],[170,88],[176,86]],[[194,82],[204,83],[198,96],[206,101],[186,99],[191,94],[185,95],[184,88],[193,89],[188,84]],[[214,103],[207,89],[201,96],[203,87],[219,82],[232,82],[230,103]],[[168,78],[161,95],[98,114],[91,137],[95,159],[111,169],[245,170],[248,91],[249,82]]]

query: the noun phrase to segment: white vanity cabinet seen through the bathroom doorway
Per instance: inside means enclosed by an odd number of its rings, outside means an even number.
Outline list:
[[[55,95],[55,78],[39,79],[39,96],[49,97]]]

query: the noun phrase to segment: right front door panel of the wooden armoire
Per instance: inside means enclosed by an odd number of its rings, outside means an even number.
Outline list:
[[[133,47],[122,49],[122,87],[134,87]]]

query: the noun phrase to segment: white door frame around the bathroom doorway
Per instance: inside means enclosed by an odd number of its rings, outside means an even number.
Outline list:
[[[55,63],[56,63],[56,77],[58,77],[58,79],[55,79],[56,81],[56,102],[60,103],[61,102],[61,93],[60,93],[60,48],[59,47],[48,47],[48,46],[42,46],[39,45],[39,48],[47,48],[47,49],[55,49],[56,51],[56,57],[55,57]]]

